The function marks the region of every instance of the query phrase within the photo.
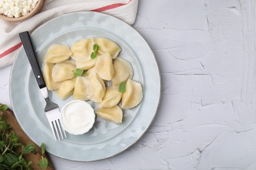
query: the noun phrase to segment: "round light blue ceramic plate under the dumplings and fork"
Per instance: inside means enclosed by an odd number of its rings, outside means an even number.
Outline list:
[[[84,135],[70,135],[55,142],[44,113],[45,101],[39,92],[32,69],[21,48],[12,65],[10,95],[12,109],[22,129],[47,151],[74,161],[95,161],[114,156],[134,144],[150,126],[160,101],[160,73],[154,54],[144,39],[128,24],[97,12],[66,14],[33,31],[32,42],[43,67],[43,57],[52,44],[68,44],[89,37],[106,37],[121,47],[118,57],[131,63],[133,80],[142,84],[143,99],[139,106],[123,110],[123,122],[114,124],[96,118],[94,127]],[[60,109],[72,97],[62,101],[54,92],[51,99]],[[95,103],[91,102],[95,108]]]

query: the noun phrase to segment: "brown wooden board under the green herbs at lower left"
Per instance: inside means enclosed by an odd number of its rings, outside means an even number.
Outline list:
[[[0,104],[1,105],[1,104]],[[17,136],[18,136],[18,139],[19,139],[19,142],[20,143],[24,143],[24,144],[30,144],[30,143],[33,143],[33,141],[28,137],[28,135],[26,135],[26,133],[24,133],[24,131],[22,130],[22,128],[20,127],[20,125],[18,124],[15,116],[14,116],[14,113],[12,112],[11,109],[8,109],[6,111],[1,111],[0,110],[0,113],[3,112],[7,115],[7,122],[9,124],[11,124],[12,126],[12,130],[16,132]],[[33,143],[35,144],[35,143]],[[45,148],[47,149],[47,146],[45,146]],[[39,163],[39,161],[41,160],[42,158],[42,154],[41,154],[41,148],[39,146],[37,146],[37,144],[35,144],[35,150],[37,151],[37,154],[24,154],[24,159],[26,161],[32,161],[32,165],[31,167],[33,169],[41,169],[41,167],[39,167],[39,165],[37,165],[37,163]],[[47,156],[47,154],[44,154],[43,155],[45,158],[47,158],[47,160],[53,164],[49,158],[49,156]],[[54,169],[53,166],[51,167],[48,167],[47,169],[51,170],[51,169]]]

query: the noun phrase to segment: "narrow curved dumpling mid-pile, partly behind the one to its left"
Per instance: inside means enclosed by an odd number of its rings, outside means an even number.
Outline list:
[[[94,89],[91,101],[99,103],[100,101],[102,101],[102,98],[105,95],[106,91],[104,81],[96,73],[91,73],[89,76],[87,76],[87,78],[89,78],[89,80],[91,81]]]

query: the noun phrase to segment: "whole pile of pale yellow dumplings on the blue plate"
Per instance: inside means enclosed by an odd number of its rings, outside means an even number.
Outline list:
[[[98,45],[95,59],[93,45]],[[71,48],[53,44],[44,58],[43,76],[48,90],[54,90],[60,99],[73,95],[74,99],[98,103],[95,113],[117,124],[123,120],[123,110],[139,105],[142,86],[132,80],[133,67],[123,58],[117,58],[121,48],[109,39],[82,39]],[[76,69],[83,75],[74,76]],[[125,92],[119,84],[126,82]]]

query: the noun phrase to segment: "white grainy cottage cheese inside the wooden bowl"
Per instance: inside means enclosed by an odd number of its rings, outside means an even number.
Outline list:
[[[0,14],[18,18],[31,12],[38,0],[0,0]]]

